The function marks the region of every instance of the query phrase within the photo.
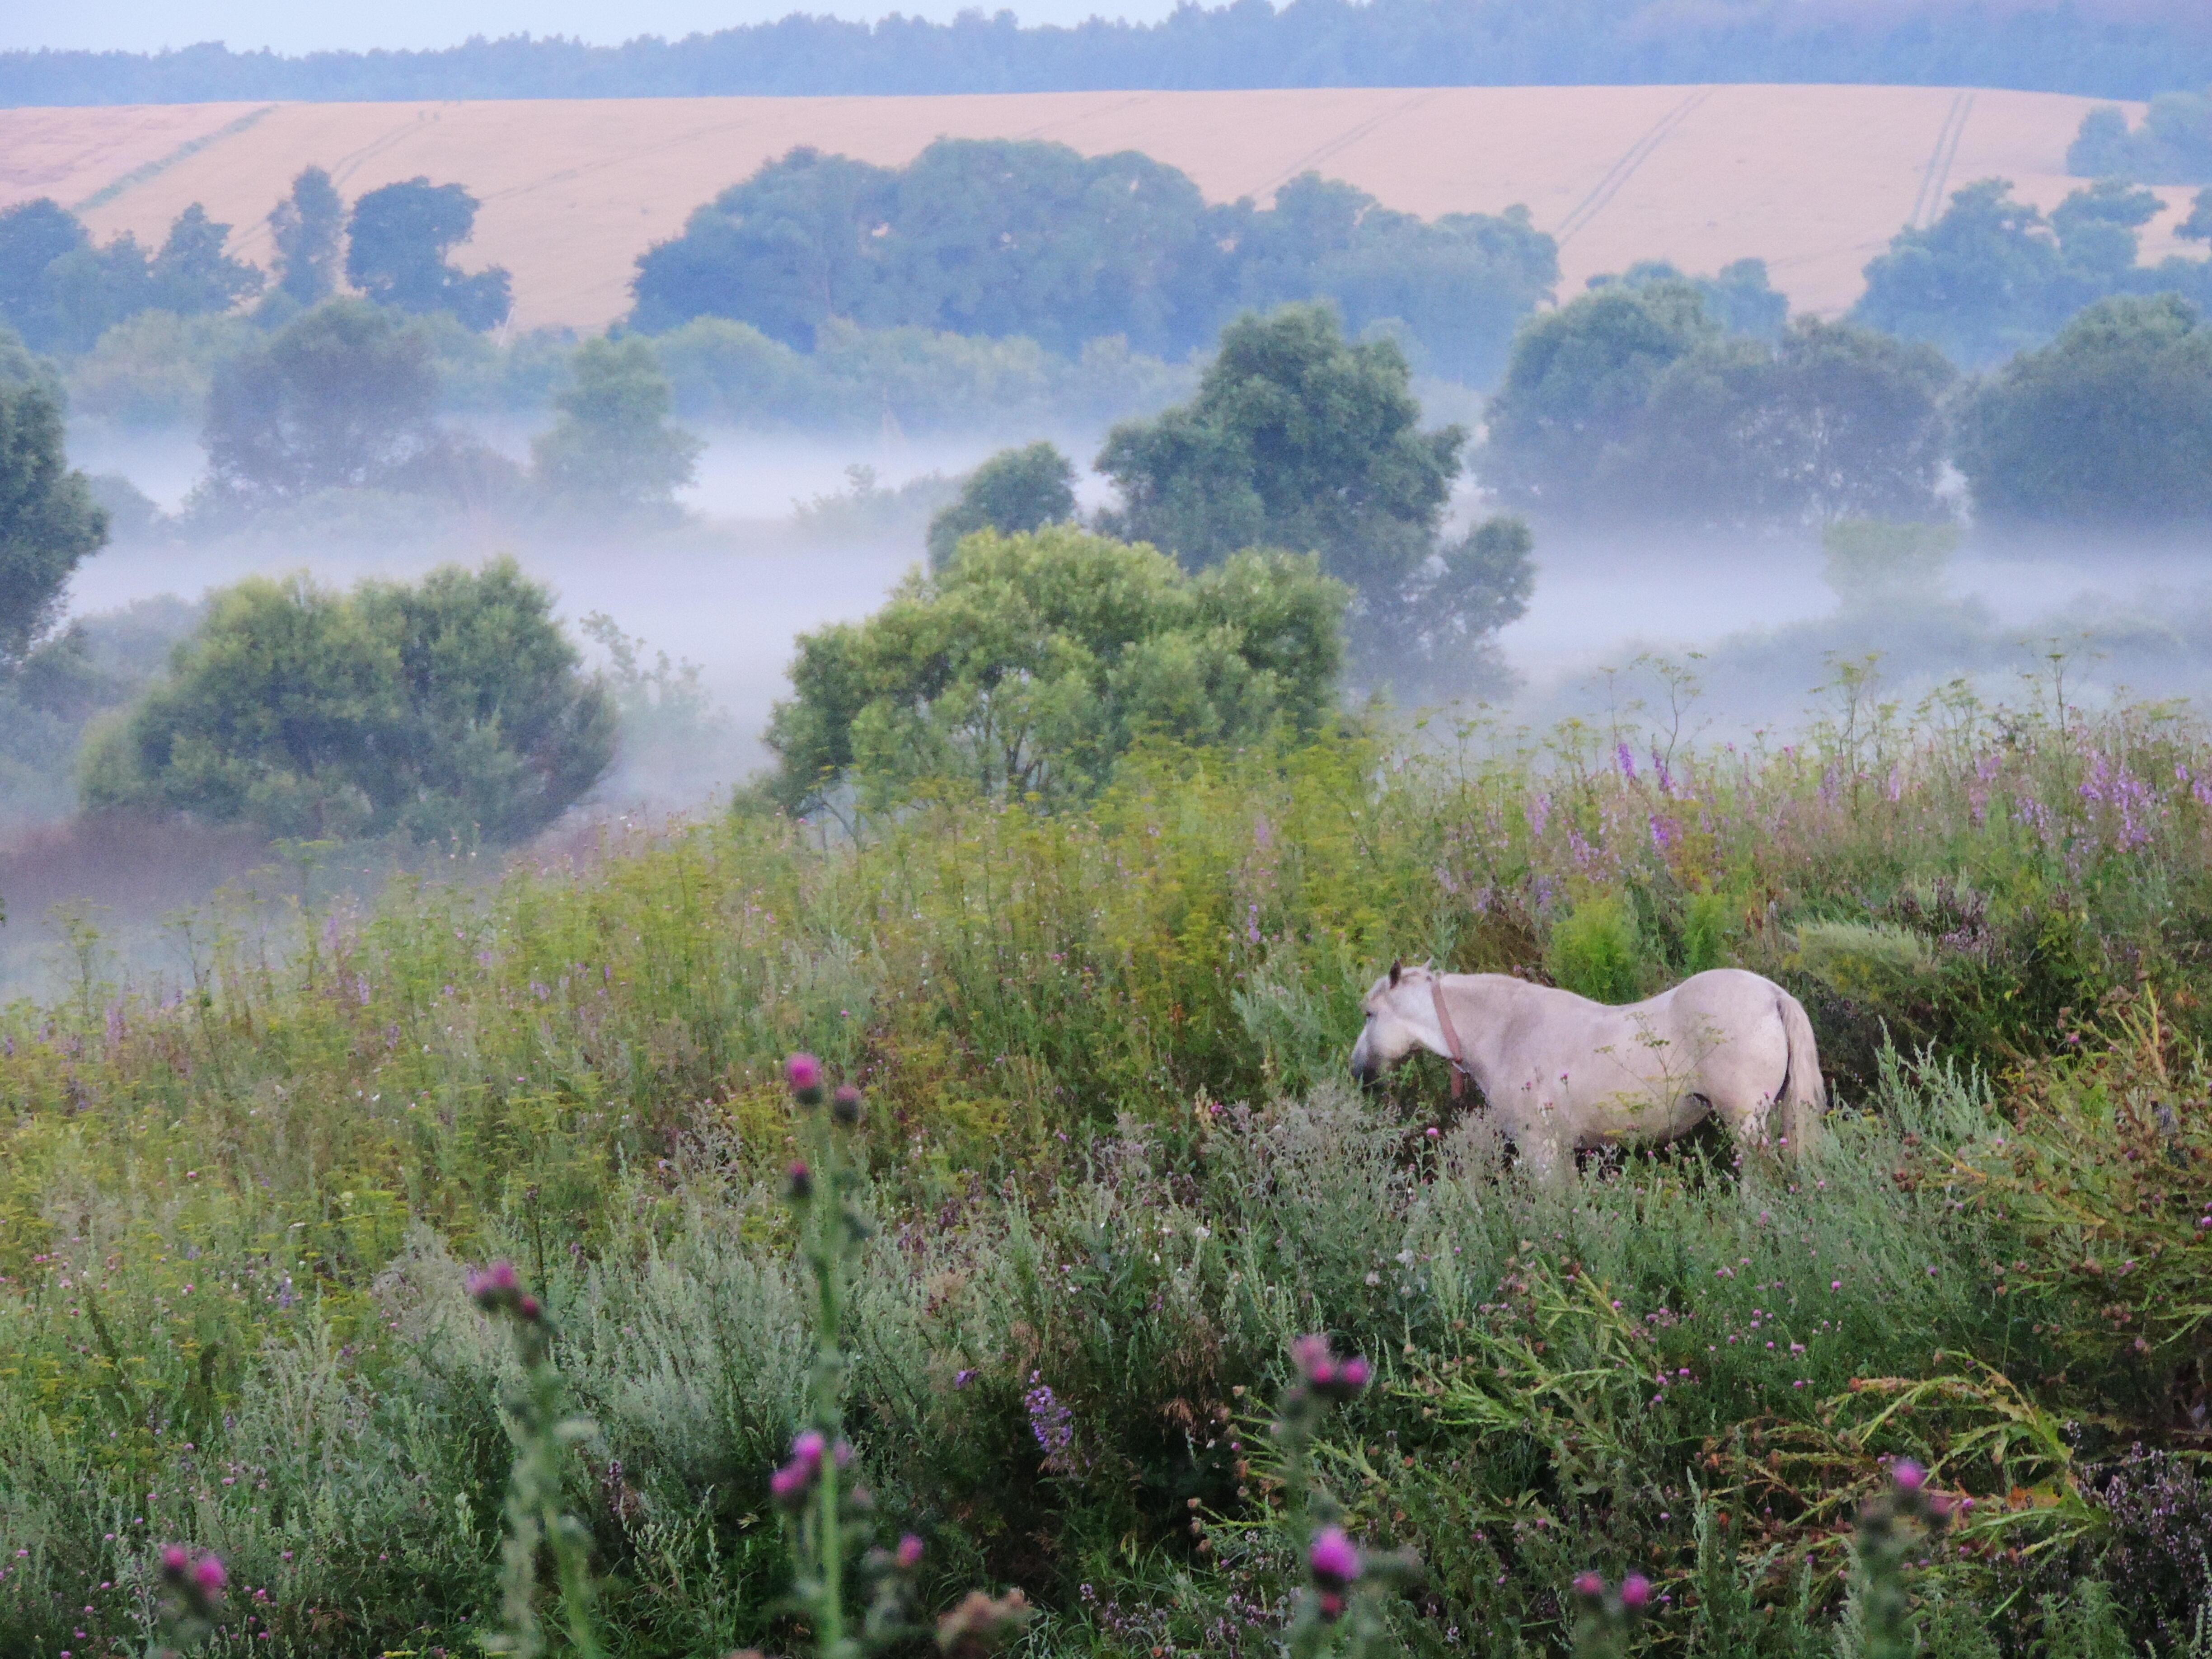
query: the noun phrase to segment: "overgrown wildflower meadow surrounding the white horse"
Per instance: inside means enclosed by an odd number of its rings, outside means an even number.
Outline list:
[[[2194,1652],[2208,940],[2208,734],[1964,697],[215,911],[0,1013],[0,1652]],[[1772,973],[1832,1133],[1524,1183],[1391,956]]]

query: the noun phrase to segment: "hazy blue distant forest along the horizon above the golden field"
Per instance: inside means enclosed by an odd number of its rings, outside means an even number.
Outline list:
[[[2212,82],[2212,9],[2117,20],[1958,4],[1907,20],[1814,9],[1661,9],[1650,0],[1237,0],[1157,24],[1024,29],[790,15],[622,46],[471,40],[447,51],[0,53],[0,106],[208,100],[688,97],[714,93],[1015,93],[1237,86],[1535,86],[1887,82],[2150,97]]]

